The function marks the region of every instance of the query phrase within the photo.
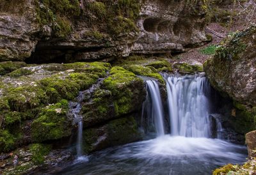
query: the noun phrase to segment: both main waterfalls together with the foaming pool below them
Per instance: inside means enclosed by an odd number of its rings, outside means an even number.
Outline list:
[[[212,174],[225,164],[246,161],[246,147],[212,134],[223,130],[218,114],[210,114],[209,83],[200,75],[165,76],[168,110],[164,112],[159,86],[146,80],[147,99],[142,122],[154,126],[156,138],[97,151],[56,174]],[[168,114],[167,114],[168,113]],[[165,134],[164,114],[170,118]],[[212,116],[212,117],[210,117]],[[168,125],[166,125],[168,126]],[[219,138],[219,139],[218,139]]]

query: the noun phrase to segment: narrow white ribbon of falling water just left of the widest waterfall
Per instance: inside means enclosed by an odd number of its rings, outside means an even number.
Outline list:
[[[154,119],[154,125],[156,127],[157,135],[164,135],[164,117],[163,117],[163,105],[159,86],[155,80],[147,80],[147,88],[150,98],[152,100],[152,116]]]

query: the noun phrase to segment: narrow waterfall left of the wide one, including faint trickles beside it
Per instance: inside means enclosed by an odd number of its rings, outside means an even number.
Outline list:
[[[164,135],[164,117],[163,105],[159,86],[156,80],[146,80],[147,83],[147,98],[143,104],[143,114],[147,112],[148,119],[154,121],[154,126],[158,136]],[[150,104],[152,102],[152,104]]]

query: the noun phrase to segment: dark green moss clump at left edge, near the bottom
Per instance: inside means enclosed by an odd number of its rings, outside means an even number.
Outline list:
[[[15,137],[8,130],[0,129],[0,148],[4,152],[15,148]]]

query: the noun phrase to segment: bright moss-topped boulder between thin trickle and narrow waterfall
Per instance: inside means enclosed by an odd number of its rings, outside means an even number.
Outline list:
[[[84,126],[92,126],[140,110],[145,98],[143,80],[122,67],[111,68],[110,75],[82,108]]]

